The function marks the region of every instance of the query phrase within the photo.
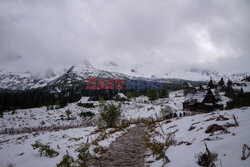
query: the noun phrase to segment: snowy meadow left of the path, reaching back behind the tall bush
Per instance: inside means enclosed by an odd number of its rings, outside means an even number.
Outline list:
[[[120,103],[111,101],[113,103]],[[147,117],[156,117],[160,115],[160,110],[167,103],[168,99],[160,99],[151,103],[147,97],[141,96],[131,99],[130,101],[122,103],[122,119],[133,120]],[[67,119],[66,111],[70,110],[70,118]],[[74,126],[81,125],[86,121],[86,118],[80,117],[81,112],[92,112],[96,115],[93,119],[94,126],[84,125],[79,128]],[[33,164],[41,167],[53,167],[60,162],[63,155],[66,154],[66,150],[74,158],[78,153],[76,149],[80,147],[82,143],[93,142],[101,135],[107,135],[104,139],[98,141],[98,146],[107,148],[118,136],[125,131],[115,131],[110,133],[113,129],[106,129],[105,132],[95,132],[98,119],[99,106],[94,108],[84,108],[78,106],[76,103],[68,104],[61,109],[47,110],[46,107],[33,108],[33,109],[20,109],[15,112],[4,113],[3,118],[0,118],[0,130],[4,133],[5,129],[12,128],[14,134],[1,134],[0,135],[0,166],[7,166],[9,163],[20,167],[29,167]],[[63,119],[62,119],[63,118]],[[64,128],[72,126],[74,128]],[[86,126],[86,127],[85,127]],[[135,125],[130,125],[133,127]],[[52,131],[42,129],[42,127],[61,127],[58,131],[53,128]],[[128,128],[130,128],[128,127]],[[38,130],[32,133],[15,133],[15,130],[27,128],[34,128]],[[40,157],[38,150],[33,150],[31,144],[36,141],[42,144],[49,144],[51,148],[59,152],[59,155],[54,158]],[[93,152],[95,145],[91,145],[90,152]]]

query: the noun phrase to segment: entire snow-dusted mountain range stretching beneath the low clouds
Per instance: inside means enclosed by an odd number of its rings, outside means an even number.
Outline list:
[[[41,88],[45,86],[72,84],[84,81],[86,77],[99,77],[99,78],[145,78],[145,79],[165,79],[171,81],[172,79],[185,79],[192,81],[208,81],[210,78],[219,80],[221,77],[224,79],[230,78],[231,80],[241,80],[249,73],[238,73],[225,75],[218,72],[211,72],[208,70],[200,70],[191,68],[189,70],[172,70],[164,75],[156,74],[150,77],[143,74],[139,66],[129,70],[128,73],[113,72],[111,70],[96,69],[89,61],[85,61],[82,65],[72,66],[68,70],[54,73],[52,70],[47,71],[46,75],[34,75],[31,72],[25,73],[12,73],[0,71],[0,89],[9,90],[26,90]]]

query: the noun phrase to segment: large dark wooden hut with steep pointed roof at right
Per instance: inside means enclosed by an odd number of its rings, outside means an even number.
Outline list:
[[[189,111],[210,112],[221,108],[223,108],[223,105],[216,102],[216,98],[210,89],[206,93],[205,91],[198,91],[192,98],[183,102],[183,109]]]

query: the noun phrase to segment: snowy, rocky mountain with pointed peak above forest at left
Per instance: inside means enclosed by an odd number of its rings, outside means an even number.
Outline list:
[[[68,70],[53,75],[33,75],[30,72],[12,73],[0,71],[0,88],[9,90],[25,90],[41,88],[45,86],[71,84],[84,81],[86,77],[100,78],[127,78],[129,76],[122,73],[110,72],[94,68],[89,62],[82,66],[72,66]]]

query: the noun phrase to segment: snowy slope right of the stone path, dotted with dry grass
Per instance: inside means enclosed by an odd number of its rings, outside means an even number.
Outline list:
[[[219,115],[229,119],[216,121]],[[226,128],[229,133],[223,131],[216,131],[214,134],[205,133],[209,125],[234,123],[233,115],[235,115],[239,126]],[[200,152],[205,152],[204,142],[206,142],[209,150],[218,154],[217,161],[215,161],[216,166],[220,166],[221,163],[222,166],[226,167],[246,167],[250,164],[250,158],[243,161],[241,156],[243,144],[250,146],[249,120],[250,107],[183,117],[174,119],[170,123],[162,121],[155,127],[155,131],[160,135],[151,133],[154,135],[152,140],[165,143],[168,134],[175,132],[172,137],[177,144],[170,146],[165,151],[170,160],[166,166],[198,166],[196,156]],[[190,130],[191,125],[194,127],[192,130]],[[191,144],[189,145],[187,142]],[[153,156],[147,158],[147,161],[150,160],[154,160]],[[158,167],[162,164],[163,160],[161,159],[152,163],[151,166]]]

